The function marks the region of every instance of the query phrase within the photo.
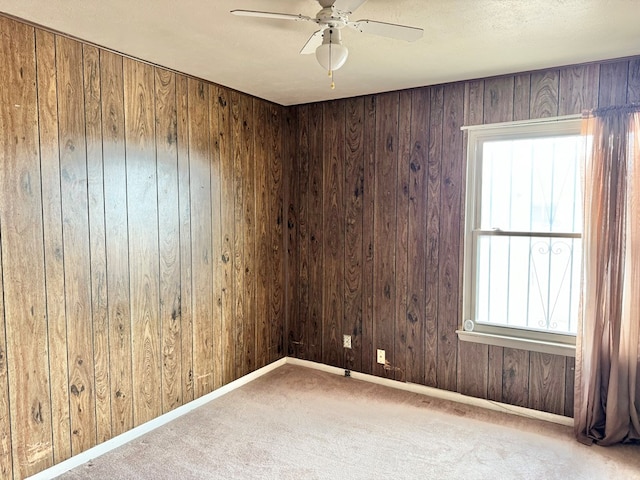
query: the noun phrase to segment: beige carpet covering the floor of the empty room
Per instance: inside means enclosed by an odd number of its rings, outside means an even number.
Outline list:
[[[640,446],[285,365],[63,479],[640,479]]]

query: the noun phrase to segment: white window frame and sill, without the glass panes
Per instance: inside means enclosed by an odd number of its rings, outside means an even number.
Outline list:
[[[457,331],[462,341],[519,348],[542,353],[575,356],[575,335],[522,329],[517,327],[469,324],[474,319],[477,283],[477,242],[474,232],[478,229],[481,195],[482,145],[487,141],[531,137],[575,135],[580,133],[581,117],[568,116],[537,121],[509,122],[477,127],[468,130],[467,187],[465,199],[465,238],[463,270],[462,325]],[[499,235],[500,233],[497,232]],[[553,236],[553,234],[551,234]]]

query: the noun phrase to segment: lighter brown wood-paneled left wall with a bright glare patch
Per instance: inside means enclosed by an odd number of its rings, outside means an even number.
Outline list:
[[[295,123],[2,16],[0,79],[0,477],[18,479],[284,355]]]

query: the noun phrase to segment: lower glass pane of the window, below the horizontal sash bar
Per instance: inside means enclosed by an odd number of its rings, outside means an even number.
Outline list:
[[[576,333],[582,241],[480,236],[476,321]]]

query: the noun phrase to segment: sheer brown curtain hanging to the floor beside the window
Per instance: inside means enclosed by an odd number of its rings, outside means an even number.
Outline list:
[[[583,285],[575,430],[584,443],[640,441],[640,106],[583,118]]]

